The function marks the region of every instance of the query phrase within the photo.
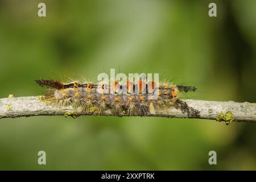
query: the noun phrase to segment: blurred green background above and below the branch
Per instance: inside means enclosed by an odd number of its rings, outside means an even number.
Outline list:
[[[47,16],[38,17],[38,3]],[[208,16],[210,2],[217,18]],[[255,102],[256,1],[0,1],[0,97],[110,68],[193,82],[189,98]],[[38,165],[38,151],[47,165]],[[208,152],[217,152],[217,165]],[[0,169],[256,169],[256,125],[204,119],[1,119]]]

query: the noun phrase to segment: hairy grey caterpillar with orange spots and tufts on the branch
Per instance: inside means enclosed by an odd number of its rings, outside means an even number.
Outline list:
[[[47,88],[44,100],[57,107],[71,106],[83,113],[104,115],[110,110],[115,116],[154,115],[156,109],[176,107],[188,115],[198,115],[199,111],[189,107],[179,97],[183,92],[195,92],[195,86],[174,85],[154,81],[127,81],[120,85],[114,81],[94,84],[85,82],[61,82],[58,80],[35,80],[36,84]],[[111,90],[113,92],[111,93]],[[152,99],[156,93],[156,98]]]

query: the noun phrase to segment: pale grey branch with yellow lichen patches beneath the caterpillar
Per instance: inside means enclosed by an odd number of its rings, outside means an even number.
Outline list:
[[[168,118],[200,118],[224,121],[227,124],[232,121],[256,122],[256,104],[249,102],[217,102],[200,100],[183,100],[189,107],[198,110],[199,115],[184,113],[180,109],[169,108],[156,110],[151,117]],[[72,107],[55,107],[40,100],[40,97],[10,97],[0,99],[0,118],[30,117],[36,115],[65,115],[77,117],[79,115],[92,115],[82,113],[81,110],[73,110]],[[108,110],[105,115],[111,115]]]

